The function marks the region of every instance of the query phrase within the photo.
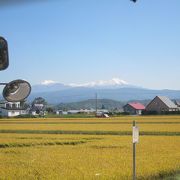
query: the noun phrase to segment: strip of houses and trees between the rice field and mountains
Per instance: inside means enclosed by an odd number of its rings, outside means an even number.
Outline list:
[[[92,99],[88,108],[73,106],[53,106],[42,97],[35,98],[31,103],[0,101],[0,117],[45,117],[55,115],[56,117],[68,115],[92,115],[108,118],[115,115],[158,115],[158,114],[180,114],[180,102],[171,100],[166,96],[156,96],[149,101],[130,101],[121,106],[106,107],[108,100]],[[111,101],[111,100],[109,100]],[[78,103],[78,102],[77,102]],[[74,103],[76,104],[76,103]]]

